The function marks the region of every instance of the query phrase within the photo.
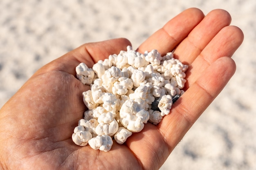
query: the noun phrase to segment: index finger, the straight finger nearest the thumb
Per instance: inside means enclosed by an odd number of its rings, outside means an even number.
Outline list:
[[[157,49],[162,55],[173,51],[189,32],[204,18],[202,11],[196,8],[190,8],[167,22],[162,29],[156,31],[145,42],[143,42],[137,51],[151,51]]]

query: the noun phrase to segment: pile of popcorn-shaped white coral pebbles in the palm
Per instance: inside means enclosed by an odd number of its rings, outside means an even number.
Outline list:
[[[109,151],[114,137],[123,144],[132,132],[140,132],[147,121],[158,124],[168,115],[175,95],[182,95],[188,66],[157,50],[144,54],[127,51],[99,60],[92,68],[81,63],[77,78],[91,89],[83,92],[88,110],[74,129],[72,140],[79,146]],[[158,108],[152,103],[159,99]]]

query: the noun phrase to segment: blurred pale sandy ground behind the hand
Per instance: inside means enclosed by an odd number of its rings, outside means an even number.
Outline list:
[[[161,170],[255,170],[255,0],[0,0],[0,107],[38,68],[81,44],[124,37],[136,49],[190,7],[229,11],[245,40],[234,77]]]

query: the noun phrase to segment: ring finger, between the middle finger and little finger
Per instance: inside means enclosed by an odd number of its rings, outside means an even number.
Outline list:
[[[224,27],[189,66],[186,72],[187,82],[185,89],[193,84],[215,60],[222,56],[231,57],[242,42],[243,32],[238,27]]]

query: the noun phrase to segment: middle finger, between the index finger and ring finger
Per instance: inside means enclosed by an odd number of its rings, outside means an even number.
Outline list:
[[[230,22],[231,16],[227,11],[221,9],[211,11],[177,46],[174,51],[175,58],[191,64],[211,39]]]

